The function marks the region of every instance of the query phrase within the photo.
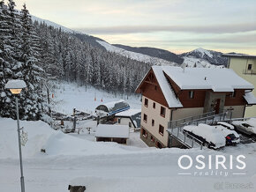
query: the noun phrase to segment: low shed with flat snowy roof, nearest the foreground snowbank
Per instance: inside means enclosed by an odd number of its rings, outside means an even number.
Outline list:
[[[95,132],[96,141],[127,144],[129,127],[127,125],[99,124]]]

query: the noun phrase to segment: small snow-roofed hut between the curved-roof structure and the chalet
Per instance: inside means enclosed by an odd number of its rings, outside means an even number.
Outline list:
[[[141,109],[130,108],[129,110],[115,114],[115,122],[119,125],[128,125],[129,128],[140,128]]]

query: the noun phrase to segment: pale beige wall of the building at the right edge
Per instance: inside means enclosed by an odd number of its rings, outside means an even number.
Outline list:
[[[254,85],[252,93],[256,97],[256,75],[244,74],[248,64],[252,64],[252,70],[256,71],[256,59],[230,58],[230,69],[234,70],[241,78]],[[246,107],[245,117],[256,116],[256,106]]]

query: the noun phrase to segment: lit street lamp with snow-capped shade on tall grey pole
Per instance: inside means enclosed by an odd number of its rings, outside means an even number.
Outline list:
[[[5,89],[10,89],[11,93],[19,95],[23,88],[26,88],[26,83],[23,80],[10,80],[5,85]],[[19,128],[19,106],[18,106],[18,97],[16,99],[16,115],[17,115],[17,125],[18,125],[18,138],[19,138],[19,164],[20,164],[20,185],[21,192],[25,192],[25,183],[23,176],[23,166],[22,166],[22,153],[21,153],[21,143],[20,143],[20,128]]]

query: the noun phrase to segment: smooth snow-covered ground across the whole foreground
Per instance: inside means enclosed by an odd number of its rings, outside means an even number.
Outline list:
[[[19,153],[16,122],[0,119],[0,186],[1,191],[19,191]],[[197,149],[155,149],[96,143],[50,129],[44,122],[21,122],[28,133],[23,150],[24,175],[27,192],[67,191],[69,184],[86,185],[86,191],[230,191],[229,184],[244,184],[255,191],[256,145],[238,144],[222,151]],[[41,152],[41,148],[46,153]],[[199,154],[243,154],[246,157],[245,175],[232,174],[235,170],[213,170],[200,175],[194,166],[190,175],[177,166],[181,155],[192,159]],[[206,162],[207,165],[207,162]],[[207,171],[207,170],[201,170]],[[229,175],[220,176],[220,171]],[[237,170],[236,170],[237,171]],[[204,172],[203,172],[204,173]],[[217,173],[217,175],[216,175]],[[213,174],[213,175],[212,175]],[[235,191],[241,190],[241,186]]]

